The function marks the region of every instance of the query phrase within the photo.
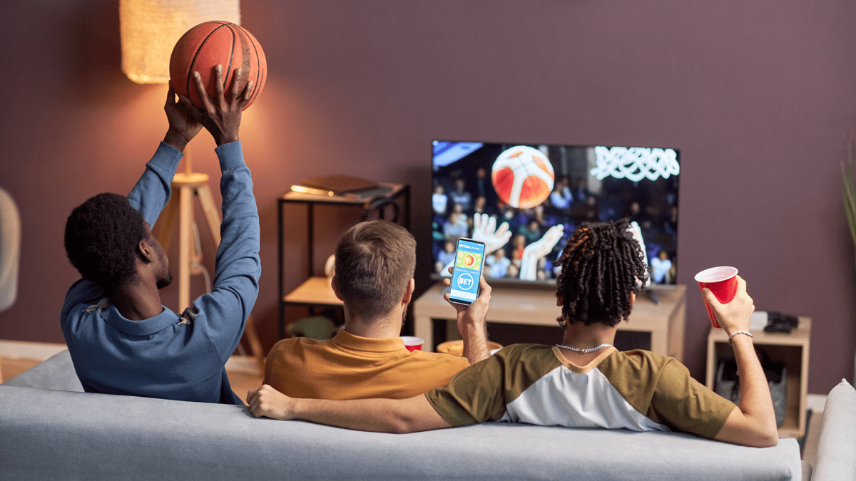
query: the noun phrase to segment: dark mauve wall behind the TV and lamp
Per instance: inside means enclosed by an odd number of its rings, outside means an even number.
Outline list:
[[[0,338],[62,341],[76,277],[65,218],[134,185],[167,126],[166,87],[122,74],[113,0],[3,2],[0,18],[0,185],[24,223],[21,293]],[[276,341],[276,197],[301,178],[411,184],[424,289],[431,139],[674,146],[693,375],[704,377],[708,330],[693,274],[731,264],[759,309],[814,319],[809,390],[828,392],[853,376],[856,341],[839,165],[856,127],[853,18],[845,0],[245,0],[242,23],[270,68],[241,132],[262,222],[253,315],[265,347]],[[194,165],[217,186],[213,146],[194,140]],[[294,288],[306,218],[287,215]],[[320,216],[326,254],[352,217]]]

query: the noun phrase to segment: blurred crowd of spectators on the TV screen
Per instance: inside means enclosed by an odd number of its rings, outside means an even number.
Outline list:
[[[550,196],[540,205],[515,209],[498,199],[490,177],[484,169],[476,171],[475,181],[467,181],[460,172],[449,178],[435,179],[431,195],[433,210],[432,238],[434,272],[443,275],[455,259],[455,243],[461,237],[473,237],[473,217],[487,214],[496,219],[496,228],[508,223],[510,240],[484,259],[484,276],[488,279],[516,279],[526,246],[541,239],[557,224],[563,224],[564,236],[549,254],[538,260],[538,281],[555,280],[559,267],[553,265],[566,241],[579,223],[617,220],[630,217],[639,223],[651,265],[651,282],[675,282],[675,241],[677,238],[677,205],[674,196],[661,202],[621,199],[591,193],[588,180],[562,175],[556,179]],[[645,206],[643,206],[645,205]]]

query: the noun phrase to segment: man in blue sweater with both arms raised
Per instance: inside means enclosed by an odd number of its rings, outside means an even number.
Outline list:
[[[101,193],[68,217],[65,247],[83,276],[68,289],[60,323],[86,392],[242,405],[226,377],[259,294],[259,213],[238,130],[253,82],[209,98],[194,73],[205,109],[169,87],[169,130],[136,186],[124,197]],[[241,78],[241,69],[235,79]],[[169,261],[151,227],[169,200],[181,151],[205,127],[217,142],[222,170],[222,241],[212,292],[175,313],[161,305]]]

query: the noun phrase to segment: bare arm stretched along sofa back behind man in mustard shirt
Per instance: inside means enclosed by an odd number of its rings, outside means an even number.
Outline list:
[[[247,405],[256,418],[304,419],[357,431],[404,434],[451,427],[425,395],[401,400],[328,401],[288,397],[263,384],[247,393]]]

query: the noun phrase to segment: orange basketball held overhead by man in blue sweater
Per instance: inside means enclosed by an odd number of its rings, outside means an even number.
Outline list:
[[[252,33],[228,21],[206,21],[188,30],[172,49],[169,57],[169,80],[175,93],[186,95],[193,105],[204,107],[194,86],[193,72],[199,72],[208,97],[214,98],[214,68],[223,65],[223,91],[229,92],[235,70],[241,68],[239,92],[253,80],[253,92],[244,110],[255,102],[267,79],[265,51]],[[189,92],[189,94],[188,94]]]

